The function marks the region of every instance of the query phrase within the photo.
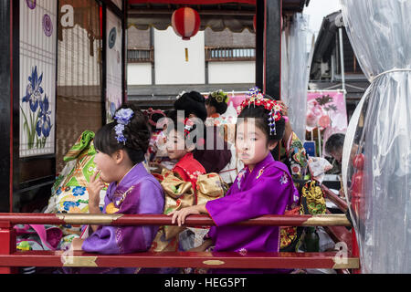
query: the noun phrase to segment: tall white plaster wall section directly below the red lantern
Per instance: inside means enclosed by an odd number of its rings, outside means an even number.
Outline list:
[[[184,48],[188,48],[188,62]],[[155,84],[205,83],[204,31],[183,40],[173,27],[154,30]]]

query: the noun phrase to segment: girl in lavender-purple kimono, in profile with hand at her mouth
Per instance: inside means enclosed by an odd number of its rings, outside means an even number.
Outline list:
[[[142,112],[123,105],[115,121],[102,127],[94,138],[96,172],[89,184],[90,214],[100,214],[100,190],[110,183],[103,214],[163,214],[164,195],[160,183],[142,162],[150,130]],[[98,177],[98,174],[100,176]],[[147,251],[158,226],[90,226],[93,233],[73,240],[71,248],[100,254],[128,254]],[[137,268],[76,268],[70,273],[135,273]]]

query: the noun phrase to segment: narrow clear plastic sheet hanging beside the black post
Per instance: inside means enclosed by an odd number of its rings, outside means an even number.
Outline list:
[[[305,140],[309,82],[307,16],[296,13],[281,34],[281,99],[289,106],[292,130]]]

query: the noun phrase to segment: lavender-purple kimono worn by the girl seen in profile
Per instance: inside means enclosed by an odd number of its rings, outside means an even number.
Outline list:
[[[104,199],[103,214],[163,214],[164,195],[160,183],[142,163],[134,165],[121,182],[111,183]],[[89,253],[123,255],[147,251],[158,226],[103,226],[85,239],[82,249]],[[137,267],[64,268],[66,273],[133,274],[144,273]]]

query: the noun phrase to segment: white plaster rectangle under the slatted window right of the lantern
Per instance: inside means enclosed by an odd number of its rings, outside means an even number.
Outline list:
[[[209,62],[208,83],[254,83],[256,62]]]

